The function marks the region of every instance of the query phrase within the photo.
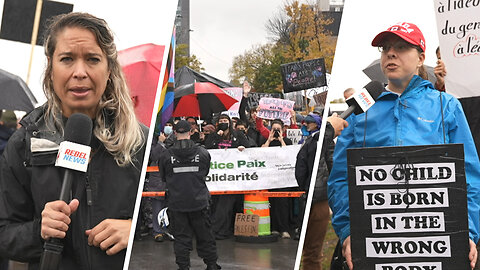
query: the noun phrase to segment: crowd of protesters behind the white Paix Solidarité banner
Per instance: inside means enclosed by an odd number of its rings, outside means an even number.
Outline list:
[[[241,103],[240,117],[230,117],[227,114],[214,115],[213,123],[199,121],[197,117],[184,117],[191,124],[191,140],[196,144],[207,149],[226,149],[237,148],[242,151],[251,147],[274,147],[292,145],[292,139],[288,138],[288,129],[303,130],[304,138],[299,142],[303,143],[305,138],[318,133],[321,125],[321,116],[319,112],[310,113],[307,117],[301,117],[302,121],[297,122],[296,112],[291,111],[291,119],[289,125],[284,124],[280,119],[268,120],[257,117],[258,108],[248,108],[245,110],[244,104],[246,98]],[[158,156],[162,151],[167,150],[175,141],[175,134],[172,132],[172,125],[179,121],[178,119],[170,119],[163,132],[154,136],[152,150],[150,153],[150,165],[156,166]],[[201,123],[201,124],[199,124]],[[318,140],[318,134],[317,134]],[[313,152],[314,153],[314,152]],[[274,156],[271,157],[275,158]],[[301,162],[313,164],[314,155],[304,157]],[[301,166],[301,165],[299,165]],[[303,168],[302,168],[303,170]],[[164,185],[161,179],[158,179],[157,173],[149,173],[147,175],[145,190],[161,191]],[[303,181],[303,179],[301,180]],[[326,179],[324,179],[326,181]],[[302,186],[302,190],[304,186]],[[271,191],[297,191],[298,188],[282,188],[272,189]],[[308,190],[308,188],[307,188]],[[306,200],[302,198],[270,198],[271,204],[271,231],[278,234],[282,238],[299,237],[299,227],[303,217],[303,207]],[[155,197],[144,200],[143,223],[141,230],[150,229],[156,241],[171,239],[168,232],[160,228],[156,215],[164,206],[163,197]],[[243,213],[243,195],[215,195],[212,196],[212,219],[213,231],[217,240],[233,237],[234,233],[234,217],[236,213]],[[293,236],[291,234],[294,234]],[[138,235],[138,234],[137,234]]]

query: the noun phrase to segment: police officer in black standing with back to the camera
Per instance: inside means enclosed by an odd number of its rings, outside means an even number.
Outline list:
[[[210,222],[210,193],[205,176],[210,154],[190,140],[190,124],[180,120],[174,127],[177,141],[162,153],[159,169],[167,183],[168,214],[175,237],[174,251],[179,269],[190,269],[192,238],[207,270],[220,269]]]

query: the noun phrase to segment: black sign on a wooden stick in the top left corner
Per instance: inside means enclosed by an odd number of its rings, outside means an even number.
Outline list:
[[[5,0],[0,38],[30,43],[37,0]],[[45,25],[53,16],[72,12],[73,5],[57,1],[43,1],[36,45],[43,45]]]

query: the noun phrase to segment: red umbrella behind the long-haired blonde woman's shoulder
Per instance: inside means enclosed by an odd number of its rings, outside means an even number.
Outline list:
[[[137,118],[150,126],[165,46],[143,44],[118,52]]]

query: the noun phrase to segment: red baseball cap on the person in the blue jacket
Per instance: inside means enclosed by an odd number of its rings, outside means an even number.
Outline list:
[[[372,46],[379,47],[381,46],[385,37],[389,34],[395,34],[405,40],[406,42],[420,46],[425,52],[425,38],[423,37],[422,31],[413,23],[401,22],[390,26],[386,31],[381,32],[372,40]]]

